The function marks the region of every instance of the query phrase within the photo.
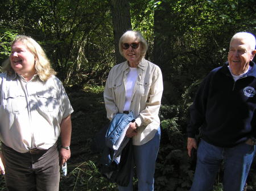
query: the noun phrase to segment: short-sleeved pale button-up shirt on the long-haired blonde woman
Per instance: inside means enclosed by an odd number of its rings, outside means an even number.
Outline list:
[[[60,123],[73,112],[60,80],[35,75],[0,74],[0,138],[18,152],[48,149],[60,135]]]

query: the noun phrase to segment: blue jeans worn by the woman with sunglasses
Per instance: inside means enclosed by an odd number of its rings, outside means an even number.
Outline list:
[[[158,156],[160,145],[160,127],[156,131],[155,136],[149,142],[141,146],[133,146],[134,163],[136,166],[136,173],[138,177],[138,190],[139,191],[153,191],[154,190],[154,173],[155,161]],[[133,172],[131,172],[133,174]],[[133,190],[133,175],[129,185],[118,186],[119,191],[132,191]]]

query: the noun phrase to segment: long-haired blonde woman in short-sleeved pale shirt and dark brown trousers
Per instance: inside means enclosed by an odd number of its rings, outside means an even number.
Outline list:
[[[0,74],[1,173],[8,190],[59,190],[72,106],[42,47],[18,35]],[[61,136],[58,152],[57,139]]]

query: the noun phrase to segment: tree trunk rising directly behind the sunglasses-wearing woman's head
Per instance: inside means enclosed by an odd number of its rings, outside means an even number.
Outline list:
[[[116,64],[119,64],[125,61],[125,58],[119,53],[119,39],[125,31],[131,30],[129,0],[110,0],[110,7],[114,30],[115,59]]]

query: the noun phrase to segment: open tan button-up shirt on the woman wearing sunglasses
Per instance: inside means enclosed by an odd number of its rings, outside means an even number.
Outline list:
[[[123,113],[125,105],[125,83],[130,68],[127,61],[115,65],[109,72],[104,90],[107,117]],[[138,134],[133,137],[134,145],[147,143],[155,136],[160,125],[158,117],[163,94],[163,78],[160,68],[145,59],[137,67],[137,81],[133,89],[130,110],[138,124]]]

